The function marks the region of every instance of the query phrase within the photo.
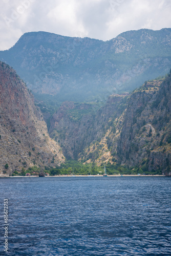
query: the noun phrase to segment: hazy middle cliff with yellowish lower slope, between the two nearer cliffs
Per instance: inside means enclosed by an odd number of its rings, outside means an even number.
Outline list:
[[[67,158],[96,163],[111,160],[106,137],[115,133],[113,125],[125,109],[126,97],[112,95],[99,110],[96,104],[63,102],[51,118],[50,136],[60,143]]]

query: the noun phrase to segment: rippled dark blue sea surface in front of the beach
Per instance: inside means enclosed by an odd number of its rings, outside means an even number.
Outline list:
[[[0,255],[171,255],[171,178],[1,178],[0,195]]]

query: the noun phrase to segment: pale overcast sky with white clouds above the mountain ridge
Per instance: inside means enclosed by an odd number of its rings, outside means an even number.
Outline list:
[[[31,31],[109,40],[171,27],[170,0],[1,0],[0,10],[0,50]]]

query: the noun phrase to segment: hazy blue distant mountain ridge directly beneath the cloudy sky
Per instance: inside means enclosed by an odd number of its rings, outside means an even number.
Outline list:
[[[109,41],[47,32],[25,33],[0,59],[35,97],[90,101],[130,92],[171,66],[171,29],[127,31]]]

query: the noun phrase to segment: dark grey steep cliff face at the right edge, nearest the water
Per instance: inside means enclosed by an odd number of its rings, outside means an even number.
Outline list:
[[[121,164],[170,175],[171,78],[145,83],[135,91],[125,112],[117,154]]]

